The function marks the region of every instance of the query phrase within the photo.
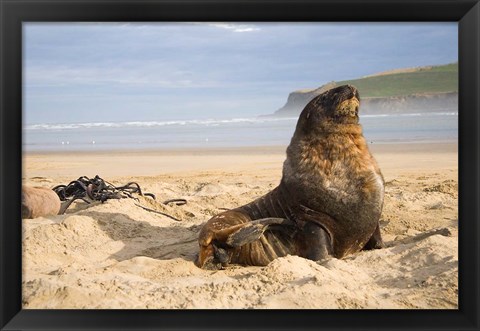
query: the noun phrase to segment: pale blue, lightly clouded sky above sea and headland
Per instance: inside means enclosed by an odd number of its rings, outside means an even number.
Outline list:
[[[24,23],[24,124],[271,114],[292,91],[458,61],[448,23]]]

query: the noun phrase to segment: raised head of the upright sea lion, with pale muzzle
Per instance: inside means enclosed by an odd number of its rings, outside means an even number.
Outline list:
[[[303,109],[297,133],[344,132],[358,128],[360,95],[352,85],[332,88],[313,98]]]

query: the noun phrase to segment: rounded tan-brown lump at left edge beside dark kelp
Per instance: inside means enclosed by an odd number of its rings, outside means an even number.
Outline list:
[[[46,187],[22,186],[22,218],[57,215],[60,211],[60,198]]]

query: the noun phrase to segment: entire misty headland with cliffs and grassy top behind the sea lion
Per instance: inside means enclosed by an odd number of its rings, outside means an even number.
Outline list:
[[[339,85],[360,92],[362,114],[425,113],[458,110],[458,63],[393,69],[357,79],[330,82],[316,89],[290,93],[273,115],[296,117],[315,96]]]

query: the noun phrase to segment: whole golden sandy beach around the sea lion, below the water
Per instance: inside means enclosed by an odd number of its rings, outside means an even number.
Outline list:
[[[384,249],[197,268],[201,226],[278,185],[285,148],[25,154],[26,185],[99,175],[157,200],[79,200],[65,215],[23,220],[23,308],[458,308],[456,143],[370,146],[386,181]],[[161,203],[174,198],[188,203]]]

